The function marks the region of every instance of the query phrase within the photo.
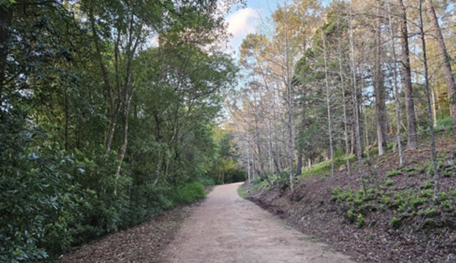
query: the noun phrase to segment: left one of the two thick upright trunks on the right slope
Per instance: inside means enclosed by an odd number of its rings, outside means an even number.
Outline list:
[[[377,144],[378,144],[378,155],[383,155],[385,153],[386,147],[386,132],[385,132],[385,87],[382,81],[382,19],[380,10],[381,1],[378,0],[377,7],[377,24],[375,29],[375,117],[376,117],[376,126],[377,126]]]

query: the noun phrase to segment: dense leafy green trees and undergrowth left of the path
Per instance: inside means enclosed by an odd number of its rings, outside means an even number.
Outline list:
[[[52,259],[244,180],[215,127],[238,72],[222,48],[239,3],[224,3],[0,1],[1,262]]]

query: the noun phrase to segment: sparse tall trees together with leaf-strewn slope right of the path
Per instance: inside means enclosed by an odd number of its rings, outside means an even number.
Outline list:
[[[454,1],[281,2],[225,100],[249,199],[367,262],[452,262]]]

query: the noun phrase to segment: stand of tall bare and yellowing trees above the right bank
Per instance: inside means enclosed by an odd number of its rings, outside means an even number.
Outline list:
[[[444,45],[441,45],[444,44],[444,37],[450,34],[441,34],[441,30],[438,34],[438,23],[435,23],[438,19],[436,13],[432,12],[434,3],[429,0],[425,2],[431,21],[425,26],[433,29],[437,44],[432,42],[434,39],[431,38],[432,34],[427,33],[429,30],[425,31],[425,41],[438,47],[441,65],[451,66],[450,56],[445,55]],[[267,120],[264,126],[255,124],[254,130],[258,132],[252,133],[248,127],[256,123],[253,121],[255,118],[233,118],[235,125],[244,123],[245,132],[250,134],[242,138],[250,138],[250,141],[255,138],[255,143],[249,145],[255,145],[256,153],[261,152],[249,159],[249,163],[261,164],[262,160],[268,158],[277,160],[275,169],[271,169],[270,165],[269,170],[264,170],[264,173],[270,174],[268,178],[273,178],[271,183],[274,184],[276,177],[272,173],[280,177],[282,169],[287,173],[299,174],[303,158],[308,163],[321,159],[333,162],[340,157],[341,152],[345,152],[348,172],[357,170],[363,178],[364,151],[376,146],[378,154],[382,155],[389,148],[389,140],[394,134],[393,148],[399,150],[399,163],[402,165],[401,141],[406,137],[406,148],[417,148],[419,134],[431,131],[430,127],[435,125],[437,116],[447,116],[445,107],[452,107],[451,102],[445,104],[441,99],[445,96],[441,92],[435,96],[440,99],[433,103],[434,93],[430,86],[433,117],[428,119],[427,105],[424,103],[427,98],[426,85],[421,83],[424,68],[417,59],[427,50],[421,45],[421,38],[410,33],[420,30],[417,22],[419,13],[416,12],[419,5],[408,0],[353,0],[348,3],[332,1],[324,9],[312,9],[309,6],[309,12],[302,14],[300,11],[291,11],[291,7],[298,10],[308,4],[294,1],[278,5],[277,10],[272,12],[271,24],[262,25],[262,28],[271,29],[269,33],[249,35],[244,40],[241,61],[248,81],[245,81],[243,99],[236,103],[236,112],[248,114],[245,103],[249,107],[253,107],[254,103],[257,106],[252,109],[257,113],[260,109],[260,118]],[[297,13],[300,16],[296,16]],[[286,23],[286,19],[293,22]],[[447,23],[452,21],[449,16],[443,19]],[[297,26],[299,23],[294,21],[301,21],[302,26]],[[257,55],[251,57],[255,57],[259,63],[255,67],[252,67],[253,63],[245,67],[247,53],[244,48],[253,38],[261,39],[255,41]],[[287,48],[280,49],[283,47],[281,43]],[[253,55],[254,52],[249,54]],[[287,58],[279,60],[280,55]],[[432,62],[434,60],[434,57],[430,59]],[[293,65],[291,89],[287,85],[288,67],[282,61],[290,62],[288,66]],[[446,72],[451,72],[451,69],[447,67]],[[432,75],[432,83],[440,83],[436,79],[437,75]],[[280,83],[280,80],[283,82]],[[271,92],[273,88],[276,88],[275,92]],[[248,93],[249,90],[255,92]],[[440,88],[437,91],[441,91]],[[451,101],[450,89],[447,89],[447,93]],[[289,101],[292,102],[291,111]],[[266,105],[274,105],[274,114]],[[436,111],[439,113],[436,114]],[[289,113],[292,121],[289,121]],[[289,153],[287,138],[290,130],[294,151]],[[264,150],[274,158],[267,157]],[[358,169],[350,167],[353,166],[349,162],[351,154],[355,154],[359,161]],[[293,167],[289,165],[289,156],[292,156]],[[285,162],[288,164],[284,165]],[[257,172],[263,173],[261,169]]]

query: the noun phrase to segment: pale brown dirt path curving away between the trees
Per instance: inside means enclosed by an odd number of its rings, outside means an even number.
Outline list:
[[[239,197],[241,184],[209,194],[168,245],[164,262],[352,262]]]

